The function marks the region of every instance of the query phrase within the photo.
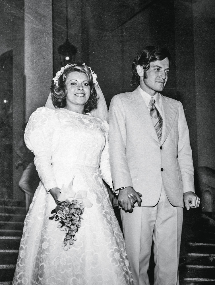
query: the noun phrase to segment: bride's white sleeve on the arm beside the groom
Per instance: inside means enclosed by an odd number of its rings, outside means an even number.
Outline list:
[[[110,172],[110,163],[109,163],[109,146],[108,146],[108,123],[104,121],[104,129],[105,129],[105,137],[106,137],[106,143],[104,146],[104,149],[102,151],[101,155],[101,162],[100,162],[100,173],[102,175],[102,178],[104,181],[110,186],[110,188],[113,188],[112,178],[111,178],[111,172]]]

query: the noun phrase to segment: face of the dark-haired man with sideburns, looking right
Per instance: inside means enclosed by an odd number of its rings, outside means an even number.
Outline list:
[[[145,76],[140,78],[140,87],[148,94],[153,96],[157,92],[163,91],[169,72],[169,59],[150,62],[149,69]]]

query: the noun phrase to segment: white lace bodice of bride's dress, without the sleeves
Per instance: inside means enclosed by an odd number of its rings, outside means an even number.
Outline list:
[[[57,113],[59,125],[55,130],[55,138],[58,143],[53,150],[52,163],[99,168],[106,143],[105,123],[90,115],[77,114],[66,109],[58,109]]]

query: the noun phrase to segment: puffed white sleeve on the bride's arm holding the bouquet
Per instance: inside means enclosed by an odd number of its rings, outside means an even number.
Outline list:
[[[56,131],[59,124],[55,110],[41,107],[30,116],[24,133],[24,141],[34,152],[34,164],[47,192],[57,187],[51,157],[58,143]]]

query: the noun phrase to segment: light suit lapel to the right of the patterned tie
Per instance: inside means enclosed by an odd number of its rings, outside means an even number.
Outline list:
[[[177,104],[177,101],[172,101],[171,99],[164,97],[161,94],[160,102],[163,117],[161,144],[163,144],[166,141],[169,132],[171,131],[179,104]]]

